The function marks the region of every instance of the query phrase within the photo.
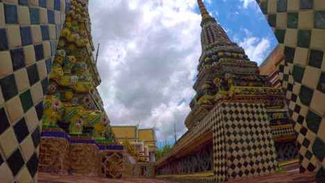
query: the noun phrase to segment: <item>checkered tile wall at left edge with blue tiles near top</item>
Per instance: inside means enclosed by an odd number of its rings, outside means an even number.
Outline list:
[[[37,177],[43,99],[68,9],[69,0],[0,1],[1,182]]]

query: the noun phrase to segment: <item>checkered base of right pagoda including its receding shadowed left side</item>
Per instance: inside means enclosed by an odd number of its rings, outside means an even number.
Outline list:
[[[212,141],[213,153],[202,161],[201,168],[191,167],[200,162],[200,149],[208,148]],[[207,144],[201,146],[199,144]],[[197,159],[181,161],[197,152]],[[208,153],[207,153],[208,155]],[[213,172],[213,180],[224,182],[231,178],[264,175],[276,171],[276,149],[272,139],[267,110],[263,103],[251,101],[220,101],[210,113],[189,130],[174,145],[172,151],[160,159],[157,177],[191,177],[193,180],[211,180],[201,173]],[[194,161],[194,162],[193,162]],[[199,172],[201,171],[201,172]],[[197,174],[197,176],[195,176]],[[175,176],[177,175],[177,176]]]

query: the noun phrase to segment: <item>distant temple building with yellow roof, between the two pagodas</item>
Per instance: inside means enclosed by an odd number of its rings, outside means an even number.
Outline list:
[[[111,126],[117,141],[121,144],[130,141],[131,145],[144,162],[156,162],[156,133],[155,128],[140,129],[135,126]]]

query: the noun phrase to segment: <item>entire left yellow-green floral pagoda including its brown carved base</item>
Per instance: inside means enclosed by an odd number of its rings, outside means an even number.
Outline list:
[[[97,90],[88,0],[72,0],[65,17],[44,100],[39,171],[90,177],[132,177]],[[53,46],[55,47],[55,46]],[[97,50],[98,53],[98,50]],[[48,62],[51,62],[49,60]],[[51,65],[51,64],[49,64]]]

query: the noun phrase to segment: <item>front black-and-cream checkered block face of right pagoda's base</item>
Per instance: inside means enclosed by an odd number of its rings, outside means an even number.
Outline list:
[[[260,103],[219,103],[213,121],[216,181],[276,171],[276,153],[266,109]]]

